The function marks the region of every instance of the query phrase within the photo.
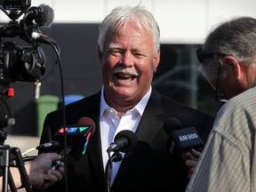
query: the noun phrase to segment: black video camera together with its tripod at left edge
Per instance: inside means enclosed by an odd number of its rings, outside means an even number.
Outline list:
[[[19,168],[22,185],[27,191],[32,191],[20,149],[4,145],[7,132],[2,128],[14,124],[14,119],[9,118],[11,109],[8,98],[13,96],[9,84],[34,82],[35,98],[38,99],[38,84],[41,85],[46,63],[44,50],[40,44],[56,45],[54,40],[44,36],[40,31],[40,27],[52,24],[52,8],[45,4],[38,7],[30,5],[30,0],[0,0],[0,9],[11,19],[6,25],[0,25],[0,159],[4,159],[0,161],[0,167],[3,168],[1,172],[4,192],[8,191],[8,186],[12,191],[17,191],[12,180],[12,172],[8,170],[9,166]],[[23,18],[18,20],[22,14]],[[8,41],[9,38],[16,36],[28,45],[20,46],[14,40]]]

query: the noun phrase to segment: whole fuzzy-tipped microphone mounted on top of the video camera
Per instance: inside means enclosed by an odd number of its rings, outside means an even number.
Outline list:
[[[50,27],[54,13],[49,5],[40,4],[38,7],[31,7],[28,12],[25,13],[25,18],[26,21],[35,20],[39,27]]]

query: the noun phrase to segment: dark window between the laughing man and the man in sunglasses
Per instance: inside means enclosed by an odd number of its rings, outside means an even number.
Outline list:
[[[220,103],[200,71],[196,49],[201,44],[161,44],[161,60],[153,79],[158,92],[215,116]]]

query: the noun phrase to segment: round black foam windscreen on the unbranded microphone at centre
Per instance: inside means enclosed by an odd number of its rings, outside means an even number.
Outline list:
[[[125,148],[121,148],[120,151],[125,153],[133,150],[133,148],[136,147],[138,140],[134,132],[130,130],[123,130],[121,132],[118,132],[116,134],[114,141],[122,138],[125,138],[126,140],[128,140],[128,145]]]

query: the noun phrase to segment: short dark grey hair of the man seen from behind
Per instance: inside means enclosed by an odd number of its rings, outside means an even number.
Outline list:
[[[217,77],[221,65],[220,54],[232,55],[247,66],[255,65],[256,19],[239,17],[222,23],[206,38],[203,52],[219,53],[202,61],[202,72],[211,79]],[[226,76],[225,71],[221,72],[220,78]]]

